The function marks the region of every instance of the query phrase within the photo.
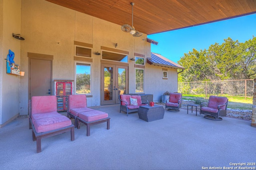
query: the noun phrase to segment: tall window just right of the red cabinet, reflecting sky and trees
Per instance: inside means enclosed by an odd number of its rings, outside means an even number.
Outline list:
[[[76,94],[91,94],[91,64],[75,63]]]

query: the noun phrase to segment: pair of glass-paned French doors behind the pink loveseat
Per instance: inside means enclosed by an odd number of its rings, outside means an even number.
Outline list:
[[[128,93],[128,66],[102,64],[101,105],[119,104],[118,95]]]

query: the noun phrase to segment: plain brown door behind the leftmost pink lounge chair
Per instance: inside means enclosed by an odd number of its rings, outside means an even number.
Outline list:
[[[30,58],[29,98],[47,95],[52,95],[52,61]]]

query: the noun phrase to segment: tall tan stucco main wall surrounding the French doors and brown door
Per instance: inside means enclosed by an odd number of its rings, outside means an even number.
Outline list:
[[[28,57],[27,53],[53,55],[53,80],[74,80],[74,41],[89,43],[92,49],[92,98],[88,106],[100,105],[101,46],[150,56],[146,35],[132,37],[120,25],[100,20],[44,0],[22,0],[21,32],[26,38],[21,45],[21,64],[25,76],[20,84],[20,114],[28,114]],[[114,47],[118,43],[118,47]],[[134,61],[129,60],[129,90],[134,93]]]

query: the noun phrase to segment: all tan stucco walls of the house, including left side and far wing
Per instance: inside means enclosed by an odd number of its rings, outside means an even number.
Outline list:
[[[1,7],[2,6],[2,7]],[[120,27],[108,21],[100,20],[45,0],[0,0],[0,51],[6,58],[8,49],[15,53],[15,62],[21,64],[25,76],[6,74],[6,64],[2,62],[0,71],[0,111],[1,123],[13,116],[28,114],[28,53],[53,55],[52,80],[74,80],[74,41],[93,45],[92,49],[92,98],[88,106],[100,105],[101,46],[129,52],[129,92],[135,92],[134,53],[150,57],[150,43],[146,36],[132,37]],[[11,12],[10,12],[11,11]],[[12,33],[21,33],[25,41],[12,37]],[[115,44],[118,47],[115,48]],[[1,65],[0,65],[1,66]],[[1,73],[2,72],[2,73]],[[162,80],[162,67],[145,65],[144,93],[153,94],[154,101],[166,90],[177,91],[177,70],[168,68],[168,80]],[[54,84],[52,84],[54,90]],[[20,103],[20,104],[19,104]]]

